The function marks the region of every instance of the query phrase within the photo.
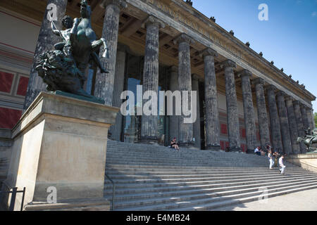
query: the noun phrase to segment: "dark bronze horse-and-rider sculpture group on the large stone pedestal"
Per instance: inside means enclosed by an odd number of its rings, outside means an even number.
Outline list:
[[[89,64],[97,65],[101,73],[108,73],[99,59],[101,46],[104,46],[102,57],[108,58],[106,42],[103,38],[97,40],[97,35],[92,30],[91,13],[87,1],[82,0],[81,18],[73,20],[66,15],[62,19],[66,30],[58,30],[51,20],[52,31],[63,41],[55,44],[54,50],[42,53],[37,60],[37,72],[47,84],[47,91],[65,91],[101,101],[83,89],[86,80],[85,70]]]

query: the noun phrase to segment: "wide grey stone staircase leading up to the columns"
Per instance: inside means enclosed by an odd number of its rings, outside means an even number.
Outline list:
[[[176,150],[108,141],[106,174],[116,185],[114,210],[218,210],[221,207],[317,188],[317,174],[244,153]],[[112,200],[105,177],[104,195]]]

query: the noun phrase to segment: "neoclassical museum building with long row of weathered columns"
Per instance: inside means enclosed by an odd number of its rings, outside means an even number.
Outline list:
[[[87,68],[85,91],[120,108],[120,94],[143,91],[197,91],[197,121],[184,116],[118,113],[109,137],[131,143],[202,150],[251,152],[271,143],[284,153],[305,153],[298,136],[315,128],[304,84],[285,75],[249,42],[199,13],[191,1],[90,0],[92,27],[104,37],[108,74]],[[12,129],[46,85],[37,75],[39,55],[61,41],[49,15],[64,30],[62,18],[80,18],[80,0],[0,1],[0,128]],[[251,41],[251,40],[250,40]],[[265,49],[263,49],[265,51]],[[135,101],[137,102],[137,101]],[[137,105],[136,105],[137,106]]]

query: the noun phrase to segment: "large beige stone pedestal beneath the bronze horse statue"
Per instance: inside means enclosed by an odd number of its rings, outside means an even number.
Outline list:
[[[108,210],[103,198],[106,143],[118,110],[39,94],[12,130],[13,155],[5,191],[25,187],[25,210]],[[54,204],[47,201],[49,187],[56,188]],[[20,209],[21,196],[17,195],[15,210]]]

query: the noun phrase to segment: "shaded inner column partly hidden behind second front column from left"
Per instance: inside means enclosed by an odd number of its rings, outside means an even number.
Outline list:
[[[116,58],[116,72],[113,85],[113,100],[112,105],[120,108],[122,100],[120,95],[123,92],[125,84],[125,58],[127,55],[128,46],[118,44],[117,58]],[[116,123],[110,127],[111,139],[120,141],[121,129],[122,129],[123,116],[120,111],[117,113]]]

